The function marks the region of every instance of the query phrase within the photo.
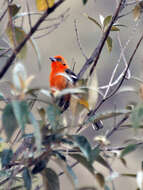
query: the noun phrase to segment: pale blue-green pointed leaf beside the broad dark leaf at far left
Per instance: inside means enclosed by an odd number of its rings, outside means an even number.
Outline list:
[[[24,133],[25,124],[27,123],[29,114],[28,105],[25,101],[12,101],[12,107],[17,122]]]

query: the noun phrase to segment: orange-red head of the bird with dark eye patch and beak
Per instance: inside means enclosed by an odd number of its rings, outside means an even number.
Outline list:
[[[57,55],[57,56],[54,56],[54,57],[50,57],[49,58],[52,62],[52,70],[54,71],[64,71],[66,69],[68,69],[68,65],[65,61],[65,59],[60,56],[60,55]]]

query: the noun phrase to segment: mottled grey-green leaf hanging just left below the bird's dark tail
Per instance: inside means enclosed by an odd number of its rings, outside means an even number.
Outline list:
[[[58,129],[59,126],[59,119],[61,115],[61,109],[54,104],[49,104],[46,108],[46,113],[48,117],[48,121],[52,126],[53,130]]]

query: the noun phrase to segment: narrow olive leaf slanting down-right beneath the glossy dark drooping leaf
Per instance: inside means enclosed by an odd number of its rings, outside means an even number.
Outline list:
[[[92,166],[92,164],[87,161],[87,159],[80,155],[80,154],[69,154],[69,156],[71,156],[72,158],[74,158],[75,160],[77,160],[80,164],[82,164],[91,174],[95,174],[95,169]]]

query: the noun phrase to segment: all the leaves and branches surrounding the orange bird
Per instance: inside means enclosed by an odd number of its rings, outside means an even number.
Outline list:
[[[8,22],[4,31],[5,35],[0,37],[3,41],[8,40],[8,47],[0,47],[0,59],[2,61],[3,58],[6,59],[4,67],[0,70],[0,78],[8,71],[13,61],[15,61],[15,64],[13,64],[11,71],[12,80],[6,82],[11,93],[10,97],[0,92],[0,189],[59,190],[61,188],[60,176],[63,174],[66,174],[73,189],[98,189],[94,185],[85,187],[81,185],[79,187],[78,176],[76,171],[74,171],[74,166],[77,164],[87,169],[100,189],[112,189],[114,181],[119,177],[135,178],[138,189],[142,189],[142,164],[140,171],[136,171],[136,173],[120,173],[120,171],[114,170],[111,162],[111,160],[121,162],[126,171],[127,158],[140,148],[143,144],[142,138],[132,137],[128,139],[127,137],[118,147],[114,147],[112,142],[110,142],[110,137],[114,133],[118,133],[119,129],[123,131],[129,129],[134,131],[135,135],[142,130],[142,81],[139,79],[141,86],[140,90],[137,91],[137,97],[140,98],[140,102],[136,101],[129,104],[130,102],[127,100],[128,106],[125,105],[122,109],[117,107],[117,109],[102,112],[99,111],[99,108],[107,100],[113,100],[113,95],[135,91],[134,88],[122,88],[122,84],[125,79],[135,79],[135,77],[130,76],[129,67],[143,36],[135,45],[135,50],[128,62],[125,61],[124,48],[121,47],[119,56],[123,57],[125,68],[115,81],[115,73],[120,60],[117,61],[110,81],[106,86],[98,87],[97,76],[95,73],[92,73],[95,70],[105,43],[108,51],[111,53],[110,56],[112,56],[113,43],[115,42],[112,32],[118,35],[119,31],[125,28],[125,25],[119,22],[122,17],[126,20],[128,14],[121,15],[121,13],[122,10],[126,10],[130,2],[127,1],[128,3],[126,3],[126,1],[121,0],[113,15],[103,17],[100,14],[100,22],[98,22],[98,19],[84,14],[101,32],[101,40],[89,58],[83,53],[78,29],[75,26],[77,43],[86,61],[77,75],[76,82],[73,82],[66,74],[61,73],[61,75],[67,78],[71,85],[70,88],[62,91],[54,89],[55,92],[52,93],[52,90],[48,89],[48,85],[47,88],[33,88],[31,85],[37,76],[30,75],[26,71],[25,63],[29,48],[32,48],[36,53],[38,68],[42,68],[40,51],[33,34],[38,31],[38,27],[41,27],[41,24],[46,21],[49,14],[53,13],[63,2],[64,0],[35,0],[36,14],[40,15],[35,25],[31,21],[31,17],[34,16],[35,12],[30,12],[28,1],[26,3],[27,9],[24,12],[24,7],[15,3],[15,0],[3,4],[2,10],[4,11],[5,4],[7,9],[0,16],[0,22],[5,18],[5,14],[8,14]],[[83,6],[88,6],[88,3],[90,1],[81,0],[81,5]],[[137,22],[142,16],[143,1],[135,1],[131,6],[130,13]],[[28,16],[29,32],[27,32],[27,28],[23,23],[19,25],[19,21],[23,20],[25,16]],[[57,24],[59,17],[61,20]],[[59,17],[56,19],[49,18],[49,21],[53,24],[52,31],[65,20],[67,17],[66,12]],[[55,20],[56,24],[54,23]],[[51,29],[51,26],[45,30],[49,28]],[[50,32],[51,30],[48,31],[48,34]],[[30,47],[28,47],[27,42],[30,42]],[[91,70],[89,70],[88,77],[85,78],[83,74],[88,69]],[[63,96],[67,97],[69,95],[71,96],[70,107],[67,110],[63,110],[59,106],[59,102]],[[97,103],[98,96],[100,97],[99,104]],[[112,119],[115,122],[112,122]],[[94,146],[91,145],[88,137],[82,134],[82,130],[91,127],[93,127],[94,131],[105,128],[107,121],[110,121],[110,128],[106,129],[104,135],[102,132],[100,135],[95,133],[92,139]],[[59,172],[57,169],[52,168],[50,161],[56,163],[62,171]],[[109,174],[107,175],[98,170],[97,164],[106,169]],[[113,189],[116,189],[116,187]]]

